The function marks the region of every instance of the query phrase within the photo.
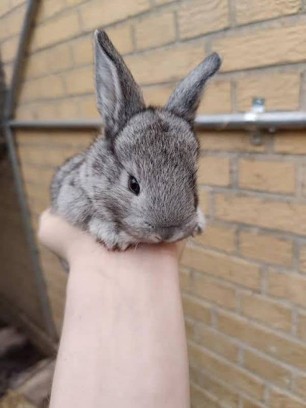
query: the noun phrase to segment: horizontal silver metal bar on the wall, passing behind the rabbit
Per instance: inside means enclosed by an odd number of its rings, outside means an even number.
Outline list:
[[[98,129],[98,119],[84,120],[11,120],[15,129]],[[254,130],[306,129],[306,112],[247,112],[224,115],[200,115],[195,120],[197,129]]]

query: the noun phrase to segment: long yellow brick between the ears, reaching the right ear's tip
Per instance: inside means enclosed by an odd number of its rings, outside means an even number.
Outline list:
[[[174,44],[125,58],[135,80],[142,85],[182,79],[205,58],[205,43]]]

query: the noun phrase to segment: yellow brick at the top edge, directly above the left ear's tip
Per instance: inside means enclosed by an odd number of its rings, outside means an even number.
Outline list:
[[[84,30],[93,30],[142,13],[150,8],[149,0],[92,0],[80,7]]]

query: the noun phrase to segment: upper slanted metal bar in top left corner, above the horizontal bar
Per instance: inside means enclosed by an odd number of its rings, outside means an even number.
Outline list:
[[[6,119],[11,119],[14,116],[23,60],[25,53],[27,52],[28,42],[31,35],[31,29],[39,3],[40,0],[28,0],[28,7],[25,12],[17,54],[14,60],[11,87],[7,93],[5,103],[4,115]]]

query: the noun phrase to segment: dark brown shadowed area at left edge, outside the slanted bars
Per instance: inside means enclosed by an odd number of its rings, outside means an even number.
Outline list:
[[[1,59],[0,59],[1,61]],[[0,62],[0,118],[4,117],[5,75]],[[0,126],[0,320],[43,327],[29,248],[9,155]]]

